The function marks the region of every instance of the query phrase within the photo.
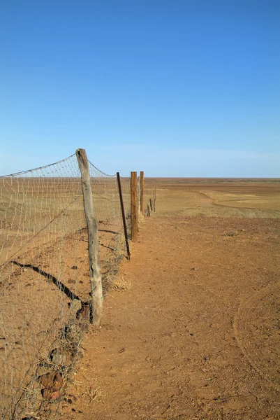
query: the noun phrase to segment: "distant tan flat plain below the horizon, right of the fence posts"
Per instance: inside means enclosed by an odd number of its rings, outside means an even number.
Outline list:
[[[156,214],[280,217],[280,179],[146,178],[156,188]]]

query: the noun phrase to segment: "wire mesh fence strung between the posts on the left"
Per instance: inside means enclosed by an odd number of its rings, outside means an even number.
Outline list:
[[[106,293],[126,253],[117,178],[91,163],[89,169]],[[129,222],[129,181],[121,179],[121,187]],[[75,155],[0,178],[3,419],[59,418],[59,398],[75,369],[89,319],[87,248]]]

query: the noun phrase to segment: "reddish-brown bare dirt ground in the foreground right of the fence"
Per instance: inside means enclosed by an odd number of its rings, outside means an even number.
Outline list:
[[[155,217],[139,236],[62,418],[279,419],[279,221]]]

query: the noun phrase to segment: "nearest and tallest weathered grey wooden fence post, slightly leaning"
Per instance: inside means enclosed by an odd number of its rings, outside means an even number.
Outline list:
[[[87,235],[89,244],[89,274],[91,281],[91,323],[101,325],[103,312],[103,294],[101,267],[98,252],[98,223],[94,218],[94,203],[92,201],[91,181],[89,176],[89,161],[84,149],[76,151],[78,164],[82,176],[82,195],[84,198],[84,215],[87,221]]]

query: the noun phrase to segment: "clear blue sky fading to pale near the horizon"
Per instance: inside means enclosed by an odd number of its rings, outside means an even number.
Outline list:
[[[279,0],[1,0],[1,174],[280,177]]]

